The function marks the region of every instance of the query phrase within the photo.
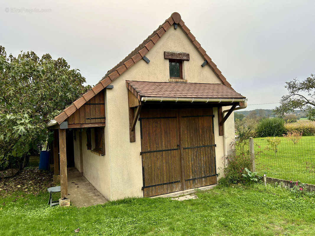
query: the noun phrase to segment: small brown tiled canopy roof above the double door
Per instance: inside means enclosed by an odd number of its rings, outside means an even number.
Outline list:
[[[129,81],[126,86],[141,100],[151,98],[244,99],[246,97],[224,84]]]

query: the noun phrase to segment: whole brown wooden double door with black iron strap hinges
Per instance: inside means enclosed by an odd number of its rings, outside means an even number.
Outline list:
[[[212,109],[142,109],[143,196],[216,183]]]

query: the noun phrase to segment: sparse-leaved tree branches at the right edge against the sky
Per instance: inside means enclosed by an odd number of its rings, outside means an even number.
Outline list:
[[[286,82],[287,95],[280,99],[280,106],[273,112],[281,117],[286,113],[291,113],[295,109],[305,111],[307,119],[315,120],[315,75],[311,74],[303,81],[297,78]]]

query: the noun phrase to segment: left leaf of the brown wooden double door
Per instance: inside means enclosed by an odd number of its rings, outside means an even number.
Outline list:
[[[180,191],[178,111],[143,109],[140,127],[143,196]]]

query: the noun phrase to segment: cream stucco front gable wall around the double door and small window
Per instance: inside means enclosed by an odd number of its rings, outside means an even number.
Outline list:
[[[185,79],[193,83],[221,83],[215,73],[207,65],[201,67],[204,59],[187,38],[186,34],[179,27],[171,27],[157,44],[146,54],[150,59],[147,64],[140,60],[129,70],[124,72],[112,82],[113,89],[106,91],[106,126],[108,128],[109,167],[106,171],[110,173],[111,196],[110,200],[124,198],[127,196],[142,197],[142,163],[140,144],[140,125],[137,122],[135,127],[136,142],[129,142],[129,119],[128,119],[128,97],[125,80],[138,81],[168,81],[169,63],[164,59],[164,51],[177,51],[190,54],[190,61],[185,61]],[[216,164],[222,166],[221,157],[224,155],[223,136],[218,134],[218,112],[215,114],[215,143]],[[107,125],[108,124],[108,125]],[[234,118],[231,115],[226,121],[227,134],[234,138]],[[107,145],[108,143],[106,143]],[[229,145],[228,145],[229,148]],[[106,156],[108,155],[106,150]],[[93,157],[97,159],[96,157]],[[105,164],[105,163],[104,163]],[[92,165],[92,161],[90,163]],[[106,163],[107,165],[107,163]],[[85,168],[92,168],[85,167]],[[103,168],[103,167],[102,167]],[[222,176],[222,175],[221,175]],[[101,186],[99,186],[101,188]],[[99,189],[98,188],[98,189]]]

